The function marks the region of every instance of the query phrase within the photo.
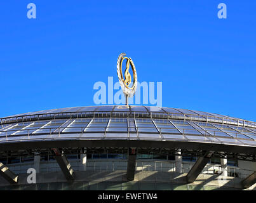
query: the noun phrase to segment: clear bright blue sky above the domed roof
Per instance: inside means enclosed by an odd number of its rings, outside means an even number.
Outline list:
[[[163,82],[163,107],[256,121],[255,9],[255,0],[1,1],[0,117],[94,105],[93,84],[118,81],[125,52],[140,82]]]

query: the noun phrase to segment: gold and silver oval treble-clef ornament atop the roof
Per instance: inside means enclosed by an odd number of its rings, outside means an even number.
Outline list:
[[[117,71],[118,71],[118,79],[120,86],[123,90],[123,93],[125,94],[126,98],[126,105],[128,105],[128,98],[132,97],[135,94],[135,91],[137,89],[137,72],[135,69],[135,65],[131,58],[125,57],[126,53],[121,53],[118,56],[118,63],[117,63]],[[125,77],[123,77],[122,72],[122,65],[123,60],[126,60],[126,69],[125,69]],[[131,70],[133,71],[133,82],[131,82],[131,74],[129,72],[131,66]]]

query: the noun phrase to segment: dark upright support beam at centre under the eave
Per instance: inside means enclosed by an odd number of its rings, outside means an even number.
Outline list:
[[[128,149],[128,162],[127,162],[127,174],[126,174],[128,181],[134,180],[136,155],[137,155],[137,148]]]

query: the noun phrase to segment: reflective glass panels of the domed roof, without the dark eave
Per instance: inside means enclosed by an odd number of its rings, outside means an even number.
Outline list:
[[[64,117],[55,117],[51,120],[50,115],[44,115],[39,117],[39,121],[32,121],[25,118],[25,122],[19,122],[13,124],[1,124],[0,125],[0,141],[8,140],[24,140],[24,139],[43,139],[43,138],[117,138],[127,139],[128,131],[130,138],[137,139],[138,137],[143,140],[162,140],[162,137],[166,140],[196,140],[207,141],[213,140],[216,143],[235,143],[238,145],[256,145],[256,128],[238,126],[234,124],[234,121],[230,119],[230,124],[222,124],[216,122],[213,119],[209,119],[208,122],[203,119],[206,115],[211,115],[206,112],[198,112],[192,110],[182,110],[180,108],[160,108],[160,107],[142,107],[142,106],[130,106],[132,111],[143,112],[141,115],[144,117],[138,117],[137,114],[123,114],[130,108],[123,108],[124,106],[97,106],[97,107],[74,107],[74,108],[60,108],[53,110],[43,110],[37,113],[49,112],[74,112],[71,115],[67,114],[70,119],[64,119]],[[115,114],[98,114],[100,117],[94,118],[81,118],[77,117],[76,112],[91,112],[91,111],[109,111],[116,110]],[[180,113],[178,110],[180,110]],[[147,114],[148,111],[160,112],[166,114],[178,113],[178,117],[161,117],[156,119]],[[198,117],[198,120],[192,120],[184,118],[182,114],[201,114],[203,116]],[[26,115],[33,115],[36,112],[31,112]],[[74,115],[73,115],[74,114]],[[77,116],[76,116],[77,115]],[[90,115],[90,114],[84,114]],[[128,117],[131,115],[132,117]],[[157,114],[158,115],[158,114]],[[217,114],[212,114],[217,115]],[[116,117],[115,117],[116,116]],[[135,119],[133,118],[135,117]],[[196,115],[197,116],[197,115]],[[218,115],[219,116],[219,115]],[[127,118],[128,117],[128,118]],[[166,119],[165,119],[166,118]],[[170,119],[172,118],[172,119]],[[230,117],[224,117],[229,119]],[[41,120],[42,119],[42,120]],[[48,119],[48,120],[45,120]],[[185,119],[185,120],[184,120]],[[220,119],[222,120],[222,119]],[[15,119],[13,121],[16,121]],[[3,122],[4,123],[4,122]],[[243,122],[239,123],[243,124]],[[249,123],[249,122],[248,122]],[[129,129],[129,130],[128,130]],[[160,134],[161,133],[161,134]],[[183,135],[184,133],[184,135]],[[213,138],[214,136],[214,138]]]

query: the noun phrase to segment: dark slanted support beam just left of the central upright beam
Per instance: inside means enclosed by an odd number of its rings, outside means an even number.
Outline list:
[[[71,167],[71,164],[67,160],[67,157],[58,150],[58,148],[52,148],[55,159],[58,163],[58,166],[60,166],[60,169],[62,169],[62,173],[64,174],[65,178],[67,180],[74,180],[74,170]]]

